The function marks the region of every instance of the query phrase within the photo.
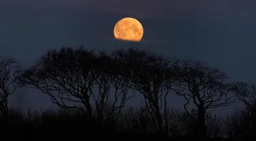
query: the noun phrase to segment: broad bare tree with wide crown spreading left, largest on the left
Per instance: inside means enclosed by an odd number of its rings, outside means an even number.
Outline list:
[[[76,108],[89,117],[93,115],[91,100],[95,100],[98,116],[102,118],[100,112],[111,94],[111,86],[122,84],[110,73],[108,67],[111,62],[107,59],[83,47],[53,49],[42,56],[35,66],[23,72],[20,83],[40,89],[43,94],[51,96],[52,102],[60,108]],[[99,88],[98,93],[96,88]],[[125,88],[122,87],[121,91],[122,94],[116,93],[115,98],[122,97],[123,101],[113,110],[122,108],[127,101]]]

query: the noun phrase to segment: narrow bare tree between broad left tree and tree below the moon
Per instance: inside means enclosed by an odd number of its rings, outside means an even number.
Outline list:
[[[96,71],[95,85],[98,94],[92,95],[92,98],[96,105],[96,115],[99,119],[115,116],[113,120],[116,121],[126,102],[134,97],[134,93],[128,93],[126,77],[119,75],[116,60],[107,56],[106,52],[100,52],[94,63],[94,70]],[[106,113],[106,116],[104,116],[104,113]]]

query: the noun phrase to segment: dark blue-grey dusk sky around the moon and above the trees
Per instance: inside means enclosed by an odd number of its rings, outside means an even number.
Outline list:
[[[0,54],[33,64],[48,49],[85,45],[113,50],[141,47],[165,56],[201,60],[235,81],[256,83],[255,0],[1,0]],[[140,43],[116,42],[115,23],[137,18]],[[132,46],[130,46],[132,45]],[[171,106],[181,105],[171,98]],[[12,106],[51,106],[48,96],[18,89]],[[230,113],[237,104],[215,110]]]

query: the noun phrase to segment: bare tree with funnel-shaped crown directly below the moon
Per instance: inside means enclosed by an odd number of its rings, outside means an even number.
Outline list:
[[[116,50],[111,55],[119,62],[119,74],[126,77],[128,87],[141,93],[145,104],[152,115],[156,132],[167,132],[162,124],[167,120],[167,96],[172,83],[171,62],[163,56],[150,54],[144,50]],[[168,77],[168,79],[167,79]]]

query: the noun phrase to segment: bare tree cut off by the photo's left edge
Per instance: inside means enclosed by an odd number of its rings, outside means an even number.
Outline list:
[[[8,96],[18,87],[20,63],[12,58],[0,56],[0,113],[8,115]]]

